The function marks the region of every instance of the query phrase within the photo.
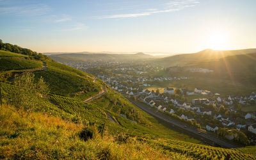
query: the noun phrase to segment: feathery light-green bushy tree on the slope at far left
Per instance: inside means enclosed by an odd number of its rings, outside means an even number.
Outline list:
[[[40,77],[35,80],[35,75],[28,73],[15,80],[16,88],[12,90],[10,104],[12,104],[21,116],[28,116],[29,113],[38,107],[40,97],[49,92],[44,79]]]

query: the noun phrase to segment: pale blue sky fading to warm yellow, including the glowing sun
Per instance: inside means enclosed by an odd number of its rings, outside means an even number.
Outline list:
[[[256,48],[255,0],[0,0],[0,39],[37,52]]]

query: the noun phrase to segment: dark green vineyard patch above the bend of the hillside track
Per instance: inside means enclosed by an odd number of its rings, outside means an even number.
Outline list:
[[[47,70],[35,73],[35,75],[44,78],[52,93],[75,96],[76,93],[83,91],[83,98],[86,99],[100,91],[100,84],[93,83],[93,77],[85,72],[55,61],[47,61],[46,67]]]

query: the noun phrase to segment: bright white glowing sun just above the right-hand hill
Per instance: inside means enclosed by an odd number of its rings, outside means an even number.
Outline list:
[[[227,48],[227,35],[223,33],[213,33],[209,36],[208,41],[210,49],[223,50]]]

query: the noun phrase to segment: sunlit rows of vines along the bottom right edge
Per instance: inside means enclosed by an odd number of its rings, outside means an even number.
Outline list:
[[[255,159],[252,154],[243,154],[237,149],[211,147],[177,140],[163,141],[146,140],[142,138],[139,138],[139,140],[155,147],[164,148],[164,150],[168,150],[170,152],[187,154],[188,156],[192,156],[196,159],[226,159],[227,157],[230,157],[230,159]]]

